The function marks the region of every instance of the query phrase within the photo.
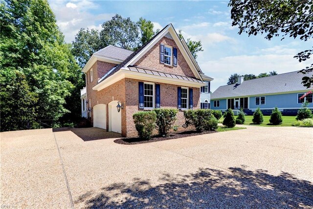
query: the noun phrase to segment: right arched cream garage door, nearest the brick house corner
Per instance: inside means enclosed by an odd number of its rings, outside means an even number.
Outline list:
[[[109,131],[122,133],[122,110],[117,112],[117,101],[109,103]]]

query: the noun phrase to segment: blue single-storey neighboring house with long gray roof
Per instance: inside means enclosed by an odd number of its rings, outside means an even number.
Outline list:
[[[301,84],[304,75],[297,72],[247,81],[241,77],[236,84],[220,86],[211,94],[211,109],[225,111],[231,108],[236,114],[243,107],[246,114],[252,115],[259,107],[263,114],[270,115],[272,109],[278,107],[283,115],[295,116],[303,101],[308,101],[312,109],[312,94],[299,99],[312,89]]]

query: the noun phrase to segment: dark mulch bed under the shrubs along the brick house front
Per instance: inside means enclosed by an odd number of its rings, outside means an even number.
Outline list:
[[[152,139],[150,140],[143,140],[141,138],[121,138],[121,139],[115,139],[114,142],[118,144],[143,144],[143,143],[150,143],[150,142],[156,142],[156,141],[164,141],[164,140],[169,140],[169,139],[178,139],[178,138],[184,138],[184,137],[192,137],[192,136],[197,136],[197,135],[202,135],[202,134],[211,134],[211,133],[216,133],[217,131],[202,131],[202,132],[197,132],[197,131],[184,131],[184,132],[175,132],[175,133],[170,133],[169,136],[167,137],[162,137],[159,135],[153,136]]]

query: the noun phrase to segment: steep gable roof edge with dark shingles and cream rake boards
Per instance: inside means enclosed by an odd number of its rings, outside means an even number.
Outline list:
[[[170,34],[168,34],[170,33]],[[156,42],[158,42],[161,38],[163,38],[164,36],[169,36],[171,35],[171,37],[174,39],[174,41],[176,42],[176,44],[178,45],[178,47],[180,46],[180,51],[182,54],[185,53],[185,59],[188,62],[189,60],[189,65],[191,67],[191,70],[193,70],[196,78],[202,80],[202,77],[200,74],[202,74],[198,64],[196,65],[195,63],[197,63],[195,61],[195,59],[190,56],[189,54],[191,54],[188,51],[189,49],[186,48],[185,46],[187,46],[186,44],[184,45],[182,43],[182,41],[179,39],[178,34],[176,33],[173,25],[170,23],[168,25],[166,25],[161,31],[159,31],[154,37],[152,37],[146,44],[144,44],[143,46],[139,47],[136,51],[134,51],[131,55],[129,55],[122,63],[120,63],[119,65],[117,65],[113,70],[110,70],[109,74],[105,75],[105,79],[107,79],[108,77],[110,77],[111,75],[113,75],[115,72],[117,72],[118,70],[120,70],[122,67],[129,67],[129,66],[133,66],[136,61],[138,61],[151,47],[153,47],[155,45]],[[104,79],[100,78],[99,81],[102,82]]]

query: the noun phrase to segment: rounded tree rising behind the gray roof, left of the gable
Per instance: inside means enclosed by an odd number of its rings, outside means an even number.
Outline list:
[[[138,29],[136,23],[130,18],[122,18],[116,14],[112,20],[102,24],[103,30],[100,32],[101,41],[111,45],[126,49],[133,49],[138,39]]]

